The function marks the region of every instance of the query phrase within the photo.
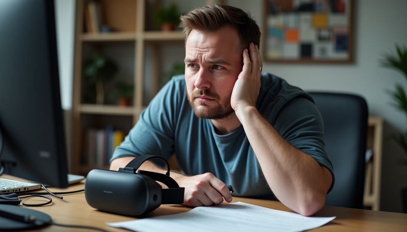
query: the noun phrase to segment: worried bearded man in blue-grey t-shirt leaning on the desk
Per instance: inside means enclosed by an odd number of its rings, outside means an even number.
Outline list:
[[[210,5],[181,17],[185,76],[169,81],[115,150],[117,170],[141,154],[176,155],[184,204],[210,206],[234,195],[273,194],[302,215],[333,186],[322,119],[312,98],[262,75],[260,30],[241,9]],[[165,173],[152,162],[140,169]]]

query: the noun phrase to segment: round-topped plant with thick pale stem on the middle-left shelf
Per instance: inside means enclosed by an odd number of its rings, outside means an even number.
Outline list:
[[[116,72],[117,65],[101,52],[94,52],[85,62],[84,76],[88,84],[96,89],[96,104],[104,103],[105,83],[111,80]]]

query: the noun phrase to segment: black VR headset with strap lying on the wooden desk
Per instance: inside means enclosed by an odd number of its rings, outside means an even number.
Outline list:
[[[144,161],[160,158],[167,165],[167,173],[136,170]],[[162,189],[155,181],[162,182]],[[170,165],[160,156],[142,155],[134,158],[119,171],[93,169],[85,182],[85,199],[98,210],[120,215],[139,216],[149,213],[161,204],[184,203],[184,187],[170,177]]]

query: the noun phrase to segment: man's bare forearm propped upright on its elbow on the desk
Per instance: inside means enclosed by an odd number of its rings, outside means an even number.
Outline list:
[[[328,169],[285,141],[256,108],[245,110],[236,115],[273,193],[302,215],[317,212],[332,182]]]

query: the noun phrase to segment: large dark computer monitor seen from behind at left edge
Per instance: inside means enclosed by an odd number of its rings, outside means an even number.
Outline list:
[[[52,0],[0,0],[0,130],[5,173],[68,187]]]

